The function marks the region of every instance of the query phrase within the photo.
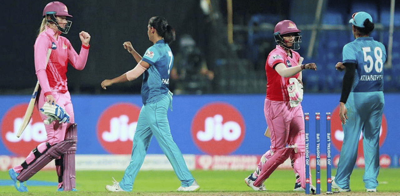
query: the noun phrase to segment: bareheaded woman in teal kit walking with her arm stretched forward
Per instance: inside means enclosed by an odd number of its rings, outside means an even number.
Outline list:
[[[169,91],[169,78],[174,56],[168,43],[175,40],[175,30],[162,17],[152,17],[147,26],[147,34],[153,46],[141,57],[130,42],[124,43],[124,48],[133,55],[136,67],[114,79],[102,81],[103,89],[115,83],[132,81],[142,73],[142,101],[136,133],[133,138],[132,156],[120,182],[114,179],[114,185],[106,185],[106,190],[132,191],[132,186],[146,156],[150,140],[156,137],[158,144],[174,168],[176,176],[181,181],[177,191],[196,191],[200,186],[194,180],[182,152],[172,140],[167,111],[172,107],[172,93]]]

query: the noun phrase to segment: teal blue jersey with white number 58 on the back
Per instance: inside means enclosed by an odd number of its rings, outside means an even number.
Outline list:
[[[372,37],[360,37],[343,47],[343,63],[356,63],[351,92],[383,91],[386,49]]]

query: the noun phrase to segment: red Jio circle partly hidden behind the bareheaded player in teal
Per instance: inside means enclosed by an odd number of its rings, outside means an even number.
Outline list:
[[[140,107],[132,103],[117,103],[105,109],[97,121],[96,133],[100,145],[111,154],[130,154],[138,124]]]

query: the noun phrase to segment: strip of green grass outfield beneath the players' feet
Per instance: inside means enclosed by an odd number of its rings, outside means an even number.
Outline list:
[[[14,186],[0,186],[0,196],[178,196],[178,195],[215,195],[215,196],[246,196],[246,195],[304,195],[302,192],[294,192],[294,174],[292,170],[276,170],[265,182],[267,192],[252,191],[244,183],[244,178],[252,171],[202,171],[194,170],[192,174],[196,178],[201,189],[196,193],[180,193],[175,190],[180,182],[173,171],[140,171],[132,192],[107,192],[106,184],[112,184],[112,177],[121,180],[122,171],[77,171],[76,184],[78,192],[56,192],[56,186],[28,186],[28,193],[17,192]],[[363,169],[355,169],[350,182],[352,193],[350,195],[370,195],[365,193],[362,182]],[[336,171],[332,171],[336,174]],[[312,170],[313,184],[315,185],[315,170]],[[0,180],[9,180],[8,172],[0,172]],[[56,182],[55,171],[40,171],[30,180],[44,180]],[[322,193],[326,192],[326,171],[321,172]],[[400,196],[400,169],[383,168],[378,176],[380,182],[378,195]],[[340,195],[349,195],[340,193]]]

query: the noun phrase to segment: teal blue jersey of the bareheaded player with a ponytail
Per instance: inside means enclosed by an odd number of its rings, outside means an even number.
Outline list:
[[[143,75],[142,101],[144,105],[156,103],[168,93],[174,56],[170,46],[160,40],[146,50],[142,61],[150,64]]]

